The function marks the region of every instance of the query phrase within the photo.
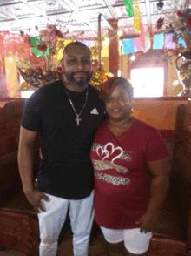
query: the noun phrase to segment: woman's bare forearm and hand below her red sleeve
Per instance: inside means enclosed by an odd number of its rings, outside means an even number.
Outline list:
[[[142,224],[141,232],[152,231],[157,222],[159,210],[168,189],[167,158],[155,162],[148,162],[148,168],[152,175],[152,180],[147,210],[138,220]]]

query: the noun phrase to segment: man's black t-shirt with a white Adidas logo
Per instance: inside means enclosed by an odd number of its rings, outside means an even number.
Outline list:
[[[78,114],[85,104],[86,92],[68,90]],[[41,133],[43,160],[37,188],[64,199],[84,199],[94,187],[89,152],[105,110],[98,91],[89,86],[87,104],[77,126],[69,98],[62,81],[45,85],[26,101],[21,125]]]

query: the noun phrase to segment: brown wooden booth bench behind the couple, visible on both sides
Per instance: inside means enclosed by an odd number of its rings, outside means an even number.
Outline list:
[[[17,166],[23,104],[23,99],[10,99],[0,107],[0,247],[37,256],[36,212],[23,194]],[[188,98],[137,98],[133,115],[161,131],[169,153],[170,185],[148,255],[191,256],[191,102]],[[34,179],[39,163],[38,150],[36,143]],[[63,227],[63,233],[64,229],[69,229],[69,225]],[[94,224],[90,256],[102,254],[98,247],[93,252],[97,237],[102,234]],[[64,246],[64,239],[61,246]],[[69,255],[72,254],[62,253],[62,256]]]

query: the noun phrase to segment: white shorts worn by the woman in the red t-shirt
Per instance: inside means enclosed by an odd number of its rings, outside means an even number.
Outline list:
[[[115,244],[124,241],[129,253],[142,254],[148,251],[152,232],[140,232],[140,228],[111,229],[100,226],[107,242]]]

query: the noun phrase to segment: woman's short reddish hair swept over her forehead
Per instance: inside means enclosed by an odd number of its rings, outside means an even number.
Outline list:
[[[101,85],[99,93],[100,98],[103,102],[112,94],[116,86],[122,86],[128,92],[129,99],[134,98],[134,89],[130,82],[124,77],[110,77],[105,83]]]

